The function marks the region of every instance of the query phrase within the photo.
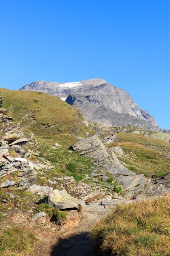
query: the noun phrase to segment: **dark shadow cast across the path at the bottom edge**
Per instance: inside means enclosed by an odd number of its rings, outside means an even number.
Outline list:
[[[89,240],[89,233],[80,233],[68,239],[59,239],[52,248],[51,256],[92,256],[93,247]]]

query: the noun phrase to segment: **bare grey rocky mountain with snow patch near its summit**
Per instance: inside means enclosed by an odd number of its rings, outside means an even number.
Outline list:
[[[39,91],[58,96],[73,105],[90,122],[102,126],[133,125],[145,130],[161,131],[156,120],[141,110],[123,89],[103,79],[89,79],[73,83],[35,81],[20,90]]]

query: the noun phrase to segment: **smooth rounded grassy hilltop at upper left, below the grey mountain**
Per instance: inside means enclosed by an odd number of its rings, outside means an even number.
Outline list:
[[[20,122],[21,127],[29,128],[40,139],[46,138],[49,144],[62,140],[62,137],[64,141],[73,142],[70,134],[84,136],[85,131],[93,133],[91,127],[82,122],[84,119],[79,110],[56,96],[3,88],[0,88],[0,96],[3,96],[3,108]]]

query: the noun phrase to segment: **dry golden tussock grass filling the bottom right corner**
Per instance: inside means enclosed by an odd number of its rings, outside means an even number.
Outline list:
[[[91,231],[97,256],[170,255],[170,200],[119,205]]]

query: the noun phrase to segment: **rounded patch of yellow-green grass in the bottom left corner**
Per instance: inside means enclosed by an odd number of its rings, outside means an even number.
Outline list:
[[[28,253],[34,248],[36,236],[26,228],[9,227],[0,235],[0,255]]]

